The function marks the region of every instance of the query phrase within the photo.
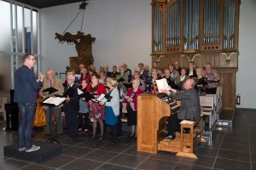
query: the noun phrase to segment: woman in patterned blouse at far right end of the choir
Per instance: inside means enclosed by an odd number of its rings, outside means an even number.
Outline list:
[[[202,73],[206,77],[208,84],[206,85],[206,94],[216,94],[218,86],[218,72],[215,69],[212,69],[211,63],[205,65],[205,69]]]

